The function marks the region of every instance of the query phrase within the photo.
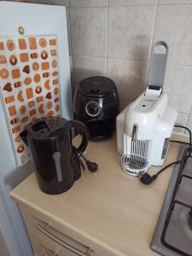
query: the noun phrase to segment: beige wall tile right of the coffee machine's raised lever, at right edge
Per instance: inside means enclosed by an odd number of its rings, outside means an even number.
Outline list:
[[[189,113],[192,104],[192,67],[167,65],[164,90],[178,112]]]

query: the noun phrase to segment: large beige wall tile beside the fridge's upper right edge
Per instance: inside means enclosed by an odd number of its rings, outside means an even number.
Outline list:
[[[107,55],[108,8],[70,9],[74,55]]]

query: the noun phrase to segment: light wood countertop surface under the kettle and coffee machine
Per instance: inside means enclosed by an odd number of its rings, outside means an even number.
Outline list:
[[[179,144],[171,143],[165,165],[177,159],[179,148]],[[146,186],[138,177],[122,171],[115,136],[105,142],[90,142],[86,152],[86,157],[96,161],[99,170],[82,171],[82,177],[67,192],[44,194],[32,173],[11,196],[20,204],[80,230],[119,256],[157,255],[150,250],[150,243],[173,167]],[[159,169],[152,167],[149,173]]]

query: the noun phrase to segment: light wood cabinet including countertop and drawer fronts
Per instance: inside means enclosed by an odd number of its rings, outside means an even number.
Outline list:
[[[170,145],[166,164],[177,159],[178,149],[176,143]],[[11,192],[34,252],[38,256],[157,255],[150,242],[172,167],[155,183],[144,186],[122,171],[116,137],[90,142],[86,156],[98,163],[98,172],[83,171],[65,193],[44,194],[34,173]],[[150,173],[154,172],[151,168]]]

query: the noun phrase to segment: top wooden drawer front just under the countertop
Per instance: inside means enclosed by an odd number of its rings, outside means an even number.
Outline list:
[[[108,251],[93,241],[89,241],[83,235],[68,228],[64,224],[57,223],[52,218],[47,217],[42,212],[29,210],[29,208],[21,207],[20,211],[26,223],[28,234],[32,244],[34,237],[41,241],[46,240],[51,242],[55,247],[65,249],[65,253],[61,255],[78,255],[78,256],[117,256],[117,253]],[[68,253],[68,254],[67,254]],[[46,254],[46,253],[45,253]],[[49,255],[49,254],[48,254]],[[44,255],[44,256],[48,256]],[[51,254],[49,256],[52,256]],[[56,255],[54,255],[56,256]],[[60,255],[58,255],[60,256]]]

